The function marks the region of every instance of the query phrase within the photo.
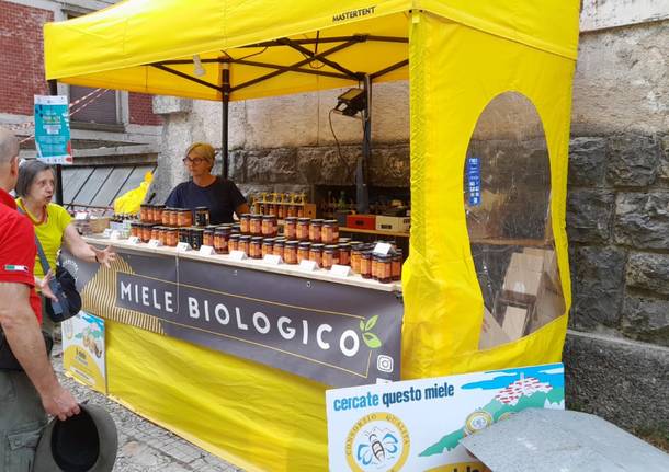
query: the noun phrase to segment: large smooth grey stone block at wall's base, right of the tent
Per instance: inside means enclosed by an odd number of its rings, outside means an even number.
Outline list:
[[[568,408],[628,430],[669,433],[669,349],[569,332],[564,362]]]

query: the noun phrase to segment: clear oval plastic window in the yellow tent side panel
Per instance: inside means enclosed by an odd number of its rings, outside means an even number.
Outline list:
[[[464,204],[484,299],[479,348],[513,342],[565,314],[548,149],[525,96],[507,92],[484,110],[465,159]]]

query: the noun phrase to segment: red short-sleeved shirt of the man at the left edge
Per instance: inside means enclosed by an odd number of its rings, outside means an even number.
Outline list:
[[[36,252],[33,223],[16,211],[14,199],[0,188],[0,281],[30,287],[31,307],[42,324],[42,302],[33,275]]]

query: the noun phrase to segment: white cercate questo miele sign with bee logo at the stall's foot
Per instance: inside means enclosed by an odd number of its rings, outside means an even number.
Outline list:
[[[330,470],[484,472],[460,440],[524,408],[564,410],[564,366],[328,390]]]

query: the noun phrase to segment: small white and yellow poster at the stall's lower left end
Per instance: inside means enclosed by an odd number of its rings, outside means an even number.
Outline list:
[[[106,393],[104,320],[80,311],[60,326],[65,370],[93,390]]]

